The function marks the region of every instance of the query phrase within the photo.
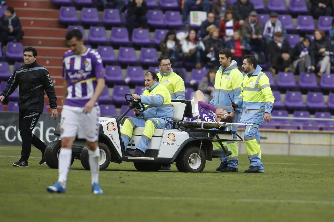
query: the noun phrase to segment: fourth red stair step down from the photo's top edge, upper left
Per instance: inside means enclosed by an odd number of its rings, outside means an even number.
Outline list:
[[[40,28],[40,27],[24,27],[24,38],[27,36],[40,36],[40,37],[55,37],[65,38],[67,29],[65,28]]]

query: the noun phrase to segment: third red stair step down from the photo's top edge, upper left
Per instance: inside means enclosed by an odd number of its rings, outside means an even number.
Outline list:
[[[32,14],[33,15],[33,14]],[[22,27],[48,27],[48,28],[66,28],[64,24],[55,18],[30,18],[20,17]]]

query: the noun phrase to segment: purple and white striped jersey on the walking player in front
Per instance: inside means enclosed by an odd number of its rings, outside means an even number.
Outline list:
[[[65,105],[83,107],[93,97],[98,78],[105,78],[101,56],[91,48],[83,54],[68,50],[63,58],[63,77],[68,80]]]

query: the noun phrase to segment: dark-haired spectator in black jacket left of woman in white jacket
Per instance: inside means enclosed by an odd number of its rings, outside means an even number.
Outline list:
[[[181,45],[176,38],[175,31],[169,30],[164,39],[160,43],[161,56],[167,56],[170,62],[175,66],[180,61]]]

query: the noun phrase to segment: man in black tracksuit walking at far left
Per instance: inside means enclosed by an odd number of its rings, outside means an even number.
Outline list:
[[[42,160],[39,162],[39,165],[45,164],[43,157],[46,145],[32,134],[32,130],[43,112],[44,90],[52,108],[51,117],[54,117],[54,120],[56,120],[58,116],[57,97],[51,77],[46,68],[37,64],[36,58],[36,49],[32,47],[24,49],[24,64],[14,70],[6,88],[0,95],[0,102],[2,102],[19,86],[19,131],[22,137],[22,151],[20,160],[13,163],[15,167],[28,167],[31,144],[42,152]]]

